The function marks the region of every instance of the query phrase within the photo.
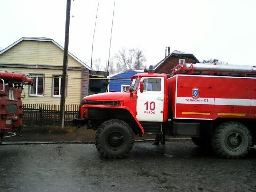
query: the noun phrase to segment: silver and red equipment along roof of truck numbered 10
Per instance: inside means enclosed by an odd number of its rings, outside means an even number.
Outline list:
[[[219,76],[245,76],[256,77],[256,66],[231,64],[178,64],[172,69],[175,74],[219,75]]]

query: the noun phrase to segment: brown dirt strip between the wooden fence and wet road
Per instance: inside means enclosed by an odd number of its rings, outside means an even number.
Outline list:
[[[21,130],[22,137],[7,137],[3,142],[58,142],[58,141],[80,141],[93,142],[96,131],[86,128],[76,129],[75,127],[25,127]],[[154,139],[155,136],[135,136],[135,139]],[[166,137],[169,138],[169,137]]]

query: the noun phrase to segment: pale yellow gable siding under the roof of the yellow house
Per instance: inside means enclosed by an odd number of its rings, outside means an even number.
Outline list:
[[[24,40],[0,55],[0,63],[63,65],[64,51],[52,42]],[[81,67],[68,55],[68,66]]]

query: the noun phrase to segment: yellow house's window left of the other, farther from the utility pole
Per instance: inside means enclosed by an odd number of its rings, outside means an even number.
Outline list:
[[[33,86],[29,87],[29,96],[43,96],[44,74],[29,74],[34,79]]]

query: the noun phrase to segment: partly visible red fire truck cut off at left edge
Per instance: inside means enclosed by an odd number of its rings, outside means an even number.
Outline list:
[[[33,79],[23,73],[0,72],[0,144],[4,137],[21,135],[23,85],[33,85]],[[7,136],[5,136],[7,135]]]

